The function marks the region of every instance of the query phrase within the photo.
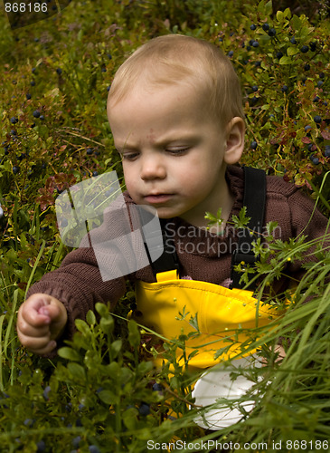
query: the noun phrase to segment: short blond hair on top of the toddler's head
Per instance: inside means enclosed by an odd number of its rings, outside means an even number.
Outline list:
[[[127,96],[141,76],[151,87],[190,83],[222,125],[235,116],[244,119],[239,78],[229,58],[212,43],[183,34],[148,41],[118,68],[108,103],[114,105]]]

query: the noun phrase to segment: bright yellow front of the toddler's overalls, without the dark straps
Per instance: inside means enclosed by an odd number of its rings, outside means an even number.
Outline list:
[[[176,270],[159,273],[156,279],[156,283],[138,282],[136,285],[137,307],[142,313],[138,322],[170,340],[183,332],[196,332],[189,319],[197,313],[201,334],[185,343],[187,356],[199,350],[189,361],[193,367],[212,367],[240,353],[240,344],[249,338],[245,330],[257,326],[256,316],[261,327],[277,315],[275,310],[258,307],[252,291],[180,279]],[[184,321],[176,319],[184,311],[189,312]],[[241,331],[233,332],[237,329]],[[228,351],[214,361],[215,352],[226,346]],[[253,351],[245,355],[251,353]]]

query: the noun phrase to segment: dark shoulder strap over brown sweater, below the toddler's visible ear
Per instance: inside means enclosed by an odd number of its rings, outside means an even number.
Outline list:
[[[240,235],[237,249],[231,258],[231,288],[242,288],[241,274],[234,270],[234,265],[241,262],[254,264],[259,260],[252,251],[252,242],[262,233],[266,206],[266,173],[262,169],[244,167],[244,197],[243,206],[247,207],[246,216],[250,217],[249,224]],[[249,289],[252,290],[252,284]]]

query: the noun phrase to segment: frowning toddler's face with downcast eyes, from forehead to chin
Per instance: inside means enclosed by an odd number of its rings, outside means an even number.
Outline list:
[[[232,204],[225,167],[240,159],[232,152],[236,139],[204,104],[184,84],[155,90],[142,84],[108,109],[130,197],[155,207],[160,218],[195,226],[206,225],[205,211]]]

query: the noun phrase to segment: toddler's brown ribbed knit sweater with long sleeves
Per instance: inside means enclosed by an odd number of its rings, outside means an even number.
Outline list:
[[[238,216],[242,207],[243,170],[240,167],[229,166],[226,178],[235,198],[227,222],[230,226],[232,216]],[[128,206],[133,204],[127,193],[125,198]],[[303,195],[293,184],[285,182],[282,178],[267,177],[265,225],[270,221],[277,221],[277,237],[288,240],[290,237],[299,235],[305,227],[304,234],[307,235],[308,240],[323,236],[327,219],[319,211],[315,211],[307,225],[314,206],[314,201]],[[106,221],[102,227],[110,227],[105,224]],[[174,217],[169,219],[168,233],[174,238],[181,277],[228,285],[231,276],[231,251],[234,250],[238,240],[233,228],[226,228],[223,236],[215,236],[186,223],[180,217]],[[310,259],[313,258],[306,256],[303,262]],[[286,273],[299,280],[302,269],[295,262],[289,265]],[[151,266],[147,265],[134,274],[103,282],[93,249],[81,247],[67,255],[59,269],[43,275],[39,282],[33,284],[27,296],[44,293],[59,299],[68,312],[68,324],[64,336],[70,339],[75,330],[74,320],[85,319],[86,313],[90,309],[93,310],[97,302],[116,304],[119,297],[125,294],[127,278],[132,282],[156,281]],[[281,292],[286,286],[288,286],[288,278],[282,277],[274,282],[273,289],[275,292]]]

